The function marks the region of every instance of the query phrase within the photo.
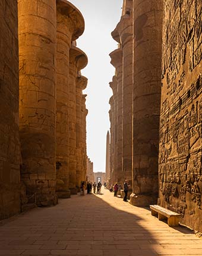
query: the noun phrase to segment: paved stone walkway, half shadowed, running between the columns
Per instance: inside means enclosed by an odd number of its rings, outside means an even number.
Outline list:
[[[202,255],[202,239],[104,195],[75,195],[0,226],[0,255]]]

